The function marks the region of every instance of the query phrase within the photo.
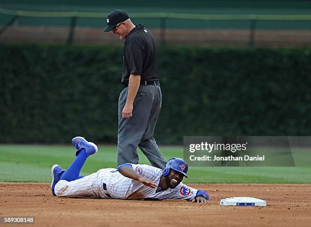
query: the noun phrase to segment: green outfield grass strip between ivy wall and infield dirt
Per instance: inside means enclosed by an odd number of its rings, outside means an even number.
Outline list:
[[[161,150],[167,159],[183,156],[182,147],[161,146]],[[138,153],[139,163],[149,164]],[[50,182],[51,166],[67,168],[74,158],[75,149],[69,145],[1,145],[0,182]],[[116,147],[100,145],[81,174],[108,167],[116,167]],[[190,167],[188,176],[184,183],[311,183],[311,167]]]

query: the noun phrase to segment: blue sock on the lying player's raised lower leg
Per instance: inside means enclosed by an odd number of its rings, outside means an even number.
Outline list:
[[[73,161],[73,163],[68,167],[68,169],[65,171],[63,176],[60,177],[59,180],[67,180],[67,181],[73,181],[76,179],[80,179],[83,176],[80,176],[80,171],[86,161],[86,153],[84,148],[80,148],[81,151],[79,152],[76,159]]]

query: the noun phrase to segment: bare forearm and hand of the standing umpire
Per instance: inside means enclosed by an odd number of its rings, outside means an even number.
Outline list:
[[[139,88],[140,84],[140,75],[131,75],[130,81],[129,81],[129,91],[128,91],[128,97],[127,102],[123,108],[122,111],[122,117],[123,118],[129,118],[132,117],[133,112],[133,103]]]

